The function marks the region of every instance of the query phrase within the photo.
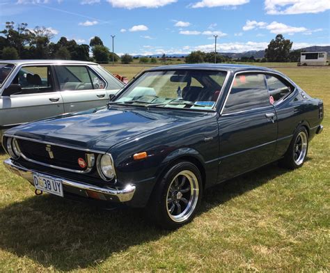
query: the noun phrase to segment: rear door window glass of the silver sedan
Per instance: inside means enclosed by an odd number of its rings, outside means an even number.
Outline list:
[[[56,65],[61,91],[104,89],[105,82],[84,65]]]

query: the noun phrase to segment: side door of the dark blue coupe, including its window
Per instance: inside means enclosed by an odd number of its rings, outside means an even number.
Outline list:
[[[240,72],[219,116],[219,175],[226,180],[272,161],[276,112],[262,73]]]

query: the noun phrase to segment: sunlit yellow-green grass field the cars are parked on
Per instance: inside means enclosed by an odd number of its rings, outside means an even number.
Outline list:
[[[143,69],[107,68],[129,78]],[[329,272],[330,69],[278,70],[324,100],[324,132],[301,169],[271,164],[207,190],[196,219],[168,232],[140,210],[35,196],[1,164],[0,271]]]

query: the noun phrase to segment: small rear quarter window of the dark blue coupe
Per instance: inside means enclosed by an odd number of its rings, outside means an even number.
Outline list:
[[[266,75],[267,86],[269,90],[269,101],[270,102],[278,102],[286,98],[291,91],[293,91],[293,86],[288,84],[283,79],[279,77],[275,77],[272,75]]]

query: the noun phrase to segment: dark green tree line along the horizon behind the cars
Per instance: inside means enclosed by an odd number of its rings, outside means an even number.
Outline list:
[[[137,57],[124,54],[118,56],[110,52],[105,47],[101,38],[95,36],[87,44],[77,44],[72,39],[61,37],[57,42],[52,42],[54,33],[52,29],[45,26],[36,26],[29,29],[28,24],[15,24],[14,22],[6,22],[5,28],[0,31],[0,57],[1,59],[63,59],[77,61],[96,61],[97,63],[109,63],[111,61],[121,63],[132,63]],[[265,49],[265,57],[262,59],[254,59],[253,56],[242,56],[237,61],[270,61],[270,62],[289,62],[299,61],[301,50],[291,50],[292,42],[278,34],[275,39],[269,42]],[[92,53],[90,55],[90,52]],[[215,58],[217,57],[217,58]],[[231,62],[229,56],[223,56],[214,52],[195,51],[184,58],[186,63],[217,63]],[[160,59],[166,61],[166,56]],[[157,63],[154,57],[142,56],[139,58],[140,63]]]

